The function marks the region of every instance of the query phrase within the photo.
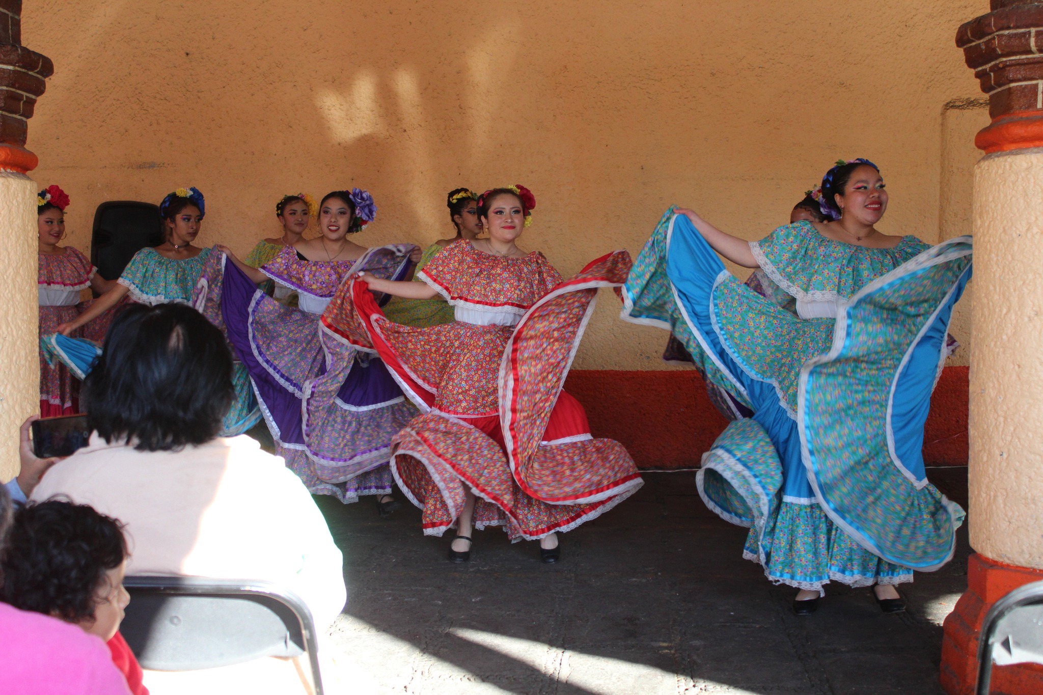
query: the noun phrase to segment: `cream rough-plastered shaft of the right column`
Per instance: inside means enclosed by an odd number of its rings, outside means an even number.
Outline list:
[[[974,191],[973,314],[989,340],[971,369],[971,545],[1043,569],[1043,148],[989,155]]]

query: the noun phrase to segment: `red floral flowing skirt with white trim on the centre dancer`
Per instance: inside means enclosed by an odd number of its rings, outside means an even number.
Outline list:
[[[540,299],[517,326],[389,321],[365,283],[341,286],[322,316],[328,334],[380,354],[422,415],[394,440],[392,471],[423,512],[423,532],[456,525],[467,491],[475,524],[512,541],[567,531],[642,485],[621,444],[595,439],[561,390],[600,287],[618,287],[630,258],[614,253]]]

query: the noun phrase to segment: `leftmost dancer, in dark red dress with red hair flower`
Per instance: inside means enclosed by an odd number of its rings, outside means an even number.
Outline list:
[[[102,294],[114,284],[113,280],[98,275],[98,269],[78,249],[58,246],[65,239],[65,209],[68,205],[69,196],[56,185],[49,185],[37,195],[37,229],[40,234],[37,282],[41,338],[53,333],[59,324],[73,321],[79,316],[84,308],[84,304],[79,301],[81,290],[91,288]],[[46,354],[41,349],[41,417],[52,418],[78,413],[78,397],[79,380],[73,377],[65,365],[48,364]]]

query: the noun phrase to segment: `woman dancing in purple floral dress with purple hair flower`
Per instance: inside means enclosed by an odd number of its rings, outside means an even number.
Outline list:
[[[249,371],[276,453],[312,494],[344,503],[375,495],[387,516],[402,506],[390,494],[391,436],[416,411],[380,359],[324,349],[318,330],[319,315],[349,273],[405,277],[410,253],[419,255],[415,246],[367,249],[349,241],[375,214],[365,191],[334,191],[319,206],[321,235],[283,247],[260,270],[217,246],[224,255],[208,264],[195,304],[224,327]],[[260,291],[267,279],[296,291],[299,307]]]

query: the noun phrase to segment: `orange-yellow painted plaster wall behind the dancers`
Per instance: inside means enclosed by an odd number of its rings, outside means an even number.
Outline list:
[[[568,274],[614,248],[636,254],[673,202],[762,237],[842,156],[881,166],[886,231],[937,242],[970,229],[961,196],[988,117],[953,35],[985,11],[984,0],[32,1],[23,43],[55,74],[28,145],[35,179],[72,196],[70,241],[84,250],[98,203],[159,202],[187,184],[207,195],[201,242],[245,252],[276,231],[284,193],[366,188],[380,213],[359,242],[426,245],[452,229],[445,191],[520,182],[538,201],[523,246]],[[661,331],[617,309],[602,297],[576,366],[662,368]]]

